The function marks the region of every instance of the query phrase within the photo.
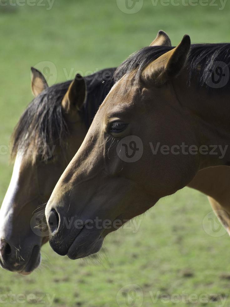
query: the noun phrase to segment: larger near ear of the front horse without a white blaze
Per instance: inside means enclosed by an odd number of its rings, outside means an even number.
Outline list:
[[[146,67],[142,73],[144,80],[153,80],[156,86],[161,86],[175,77],[186,64],[190,46],[190,37],[185,35],[176,48],[161,55]]]

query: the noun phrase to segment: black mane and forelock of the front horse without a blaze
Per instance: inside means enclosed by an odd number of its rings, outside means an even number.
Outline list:
[[[125,74],[130,74],[135,71],[134,81],[139,81],[142,71],[159,56],[172,50],[175,47],[167,46],[149,46],[140,49],[125,60],[115,71],[114,80],[120,80]],[[208,77],[209,70],[213,68],[214,62],[222,61],[230,69],[230,44],[192,44],[187,62],[190,64],[188,85],[190,85],[192,76],[199,71],[198,85],[200,87],[209,87],[205,83],[205,78]],[[229,89],[228,83],[221,89]],[[215,91],[217,89],[214,89]]]

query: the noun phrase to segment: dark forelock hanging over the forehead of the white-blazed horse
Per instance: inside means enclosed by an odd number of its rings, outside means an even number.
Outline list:
[[[22,151],[26,153],[34,144],[32,155],[38,154],[46,160],[49,146],[58,144],[63,147],[63,140],[69,134],[69,129],[61,109],[61,101],[69,88],[71,81],[55,84],[45,89],[35,97],[20,117],[12,135],[11,156]]]

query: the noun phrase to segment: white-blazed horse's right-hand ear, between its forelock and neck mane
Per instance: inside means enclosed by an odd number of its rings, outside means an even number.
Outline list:
[[[75,79],[70,83],[68,91],[62,100],[62,108],[65,113],[74,110],[80,111],[86,96],[86,85],[84,78],[77,74]]]

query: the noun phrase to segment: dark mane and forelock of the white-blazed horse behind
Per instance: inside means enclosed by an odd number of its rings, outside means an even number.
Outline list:
[[[113,85],[112,75],[114,68],[102,70],[111,76],[110,78],[98,77],[98,73],[84,77],[86,82],[86,99],[79,115],[88,129],[97,109],[105,99]],[[41,155],[41,159],[47,160],[50,149],[59,145],[66,149],[67,137],[70,134],[68,122],[62,111],[61,102],[67,92],[71,81],[55,84],[45,89],[35,97],[20,117],[12,135],[11,158],[15,153],[28,152],[35,157]]]

